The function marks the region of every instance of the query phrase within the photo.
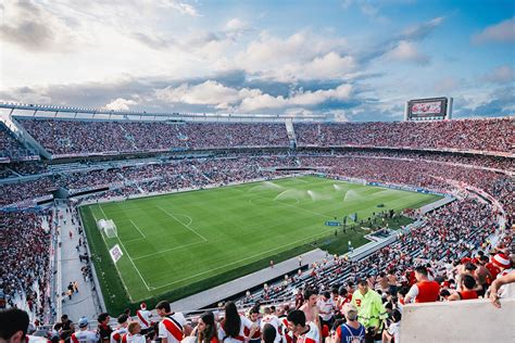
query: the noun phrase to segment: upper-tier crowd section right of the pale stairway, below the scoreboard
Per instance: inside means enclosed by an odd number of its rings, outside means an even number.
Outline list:
[[[293,126],[299,147],[359,145],[510,152],[513,144],[511,117]]]

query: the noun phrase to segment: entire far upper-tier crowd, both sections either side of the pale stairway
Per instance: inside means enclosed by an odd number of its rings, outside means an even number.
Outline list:
[[[237,147],[289,147],[284,124],[18,118],[53,155]],[[510,152],[513,118],[294,124],[299,147],[390,147]],[[156,132],[159,132],[156,135]]]

